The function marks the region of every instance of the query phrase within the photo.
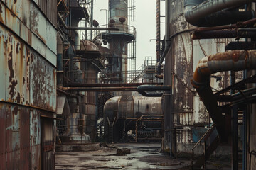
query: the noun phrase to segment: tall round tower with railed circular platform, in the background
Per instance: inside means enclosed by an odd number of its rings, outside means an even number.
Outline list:
[[[103,42],[109,43],[111,56],[105,74],[112,83],[127,82],[128,59],[134,59],[136,30],[128,25],[127,0],[109,0],[108,26],[119,28],[118,31],[102,33]],[[132,43],[132,52],[128,52],[128,43]],[[128,56],[129,55],[129,56]]]

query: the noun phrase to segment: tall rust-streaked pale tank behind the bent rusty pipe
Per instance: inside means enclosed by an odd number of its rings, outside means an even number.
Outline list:
[[[191,28],[183,15],[183,1],[172,1],[169,3],[170,20],[169,34],[171,47],[165,57],[164,84],[172,86],[172,93],[164,96],[164,122],[165,129],[183,128],[177,135],[178,152],[190,152],[192,146],[192,127],[209,124],[209,115],[203,103],[200,101],[196,90],[191,85],[193,72],[201,58],[217,52],[224,52],[226,39],[192,40]],[[220,72],[212,77],[211,86],[214,89],[223,89],[228,86],[228,73]],[[221,77],[224,81],[219,81]],[[170,109],[171,108],[171,109]],[[171,146],[171,132],[165,133],[165,148]]]

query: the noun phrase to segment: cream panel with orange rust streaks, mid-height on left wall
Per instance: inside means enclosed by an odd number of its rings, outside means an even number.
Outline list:
[[[6,31],[6,33],[8,33]],[[22,41],[8,33],[6,39],[6,58],[8,69],[6,70],[6,100],[15,103],[29,103],[29,50]]]

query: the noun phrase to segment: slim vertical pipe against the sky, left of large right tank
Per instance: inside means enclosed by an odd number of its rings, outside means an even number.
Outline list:
[[[156,0],[156,62],[160,61],[160,0]]]

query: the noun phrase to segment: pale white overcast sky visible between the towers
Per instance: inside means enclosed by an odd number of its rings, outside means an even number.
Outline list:
[[[94,19],[100,25],[106,24],[106,11],[108,0],[95,0]],[[156,0],[134,0],[135,21],[129,25],[136,27],[137,30],[137,60],[136,65],[140,67],[146,56],[151,56],[156,60]],[[161,1],[161,15],[164,16],[164,1]],[[161,18],[164,22],[164,18]],[[161,39],[164,38],[164,24],[161,24]],[[150,39],[154,39],[151,40]]]

